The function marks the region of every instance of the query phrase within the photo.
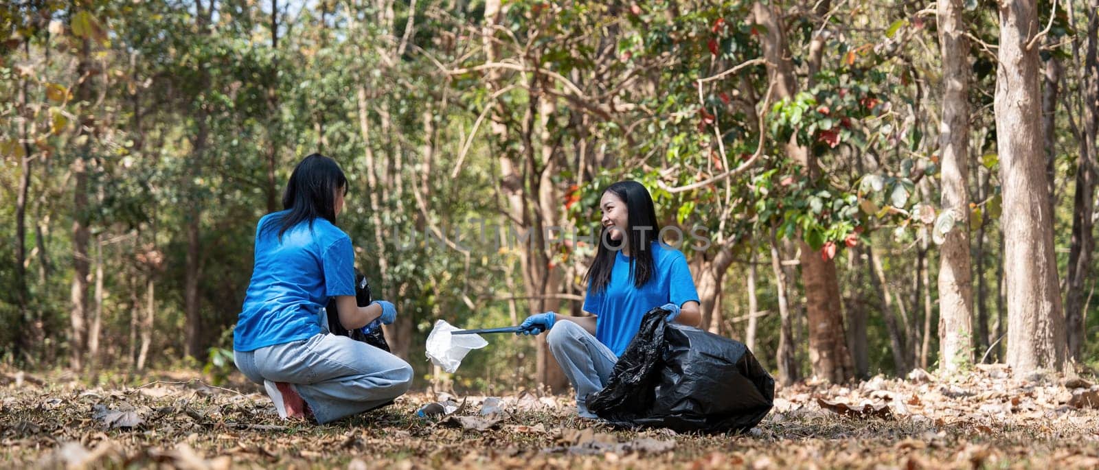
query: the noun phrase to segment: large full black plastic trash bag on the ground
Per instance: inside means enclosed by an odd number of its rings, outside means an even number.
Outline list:
[[[614,363],[588,410],[619,426],[676,432],[746,432],[775,399],[775,379],[744,344],[645,314],[637,336]]]

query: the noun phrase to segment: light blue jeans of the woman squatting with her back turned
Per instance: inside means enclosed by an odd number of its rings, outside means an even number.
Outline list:
[[[253,382],[290,383],[321,424],[380,406],[412,384],[412,367],[401,358],[326,331],[233,358]]]

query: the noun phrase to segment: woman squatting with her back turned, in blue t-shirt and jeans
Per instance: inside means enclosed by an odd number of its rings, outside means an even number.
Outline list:
[[[384,405],[408,391],[412,368],[397,356],[330,334],[321,309],[335,298],[347,329],[397,317],[393,304],[355,301],[355,253],[335,226],[347,179],[320,154],[293,169],[284,211],[256,227],[255,265],[233,331],[234,360],[263,383],[279,416],[329,423]]]

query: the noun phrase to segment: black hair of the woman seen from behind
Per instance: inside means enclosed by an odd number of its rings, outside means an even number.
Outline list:
[[[321,154],[312,154],[303,158],[290,174],[282,193],[282,209],[288,210],[280,216],[267,221],[263,230],[279,227],[278,237],[302,221],[313,221],[322,217],[336,223],[335,192],[343,189],[347,193],[347,177],[344,176],[336,160]]]

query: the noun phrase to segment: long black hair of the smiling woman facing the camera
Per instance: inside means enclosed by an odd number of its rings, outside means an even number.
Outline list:
[[[625,202],[626,226],[621,242],[610,238],[608,227],[602,227],[599,234],[599,248],[596,259],[588,268],[584,280],[589,283],[592,292],[602,292],[611,282],[611,271],[614,269],[617,251],[630,248],[630,272],[633,273],[633,284],[645,286],[653,276],[652,244],[659,238],[660,225],[656,221],[656,208],[648,190],[637,181],[619,181],[603,190],[613,193]],[[625,244],[623,247],[622,245]]]

